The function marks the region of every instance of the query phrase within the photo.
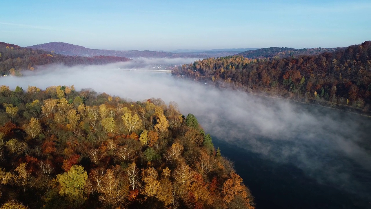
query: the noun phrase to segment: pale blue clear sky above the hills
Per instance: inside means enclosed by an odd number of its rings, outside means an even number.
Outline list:
[[[336,47],[371,39],[371,1],[3,1],[0,41],[96,49]]]

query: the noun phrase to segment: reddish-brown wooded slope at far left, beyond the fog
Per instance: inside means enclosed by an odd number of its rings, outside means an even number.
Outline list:
[[[125,57],[113,56],[66,56],[43,50],[21,48],[17,45],[0,42],[0,75],[22,75],[22,71],[24,70],[35,70],[38,65],[52,63],[64,64],[67,66],[77,64],[97,65],[129,60],[130,59]]]

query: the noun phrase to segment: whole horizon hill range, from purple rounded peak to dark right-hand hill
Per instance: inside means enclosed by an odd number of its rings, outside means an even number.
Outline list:
[[[68,44],[64,42],[50,42],[46,44],[39,44],[27,46],[27,48],[41,49],[45,51],[54,51],[56,54],[69,55],[69,56],[115,56],[127,58],[196,58],[203,59],[209,57],[226,57],[231,55],[242,55],[251,59],[264,59],[264,58],[285,58],[285,57],[298,57],[300,55],[317,55],[323,52],[334,52],[339,48],[303,48],[295,49],[288,47],[269,47],[269,48],[238,48],[238,49],[178,49],[174,51],[150,51],[150,50],[130,50],[130,51],[117,51],[108,49],[89,49],[83,46]]]

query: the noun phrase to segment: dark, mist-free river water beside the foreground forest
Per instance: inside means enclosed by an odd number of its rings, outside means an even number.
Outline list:
[[[252,191],[257,208],[371,208],[370,196],[319,183],[294,164],[277,163],[216,138],[214,144],[221,147],[223,157],[234,162],[236,172]],[[355,180],[370,189],[370,172],[357,169]],[[357,172],[364,174],[358,176]]]

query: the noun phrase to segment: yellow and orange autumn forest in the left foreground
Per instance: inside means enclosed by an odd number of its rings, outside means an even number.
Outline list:
[[[0,86],[6,208],[254,208],[192,114],[73,86]]]

